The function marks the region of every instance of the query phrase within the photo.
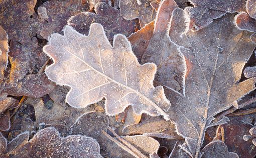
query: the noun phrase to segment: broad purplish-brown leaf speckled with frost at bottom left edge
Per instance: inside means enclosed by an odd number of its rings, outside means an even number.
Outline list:
[[[58,130],[48,127],[30,141],[13,150],[11,157],[102,157],[99,144],[91,137],[70,135],[60,137]]]

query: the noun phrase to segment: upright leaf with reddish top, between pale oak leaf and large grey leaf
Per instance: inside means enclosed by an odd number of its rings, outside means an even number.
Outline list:
[[[172,11],[178,7],[174,0],[161,2],[153,36],[146,48],[142,63],[154,62],[157,65],[155,82],[178,93],[184,91],[185,59],[180,48],[170,40],[169,21]],[[159,40],[161,39],[161,40]],[[165,109],[167,110],[167,109]]]

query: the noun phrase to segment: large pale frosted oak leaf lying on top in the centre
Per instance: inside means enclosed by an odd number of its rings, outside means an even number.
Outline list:
[[[53,34],[44,51],[55,60],[45,70],[48,77],[71,87],[66,98],[71,106],[85,107],[105,97],[109,115],[133,105],[138,114],[168,119],[163,109],[170,102],[162,86],[153,86],[156,65],[139,64],[125,36],[117,34],[112,46],[99,23],[91,24],[88,36],[66,26],[64,36]]]

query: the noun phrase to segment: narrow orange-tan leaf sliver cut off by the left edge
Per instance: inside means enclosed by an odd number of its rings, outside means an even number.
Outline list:
[[[5,29],[0,26],[0,81],[4,77],[4,70],[8,63],[8,35]]]

